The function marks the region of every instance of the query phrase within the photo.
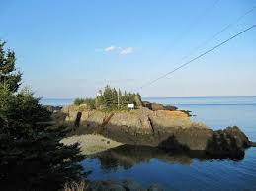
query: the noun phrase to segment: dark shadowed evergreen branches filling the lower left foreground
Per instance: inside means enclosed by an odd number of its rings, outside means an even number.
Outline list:
[[[2,67],[1,74],[8,77],[14,66],[7,68]],[[68,130],[51,126],[51,113],[39,99],[27,89],[14,93],[14,87],[19,82],[0,82],[1,190],[58,190],[80,179],[79,161],[84,157],[78,145],[59,142]]]

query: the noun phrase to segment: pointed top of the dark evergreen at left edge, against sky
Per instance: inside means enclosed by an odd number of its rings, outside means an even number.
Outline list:
[[[4,45],[5,42],[0,40],[0,83],[15,92],[20,86],[22,74],[15,69],[15,53],[10,50],[5,51]]]

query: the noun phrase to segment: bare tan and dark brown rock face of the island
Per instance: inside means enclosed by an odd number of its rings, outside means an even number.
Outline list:
[[[213,131],[203,123],[191,122],[186,113],[178,110],[141,108],[108,113],[63,108],[63,112],[67,115],[66,121],[75,122],[77,134],[98,133],[131,145],[167,151],[206,151],[216,157],[242,156],[244,149],[252,145],[238,127]]]

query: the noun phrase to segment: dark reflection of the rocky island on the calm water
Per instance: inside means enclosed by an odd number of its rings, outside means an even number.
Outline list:
[[[203,151],[176,151],[176,152],[165,152],[156,147],[148,146],[134,146],[134,145],[122,145],[105,152],[101,152],[91,156],[92,159],[99,159],[100,166],[104,172],[109,172],[118,169],[118,167],[123,167],[124,169],[129,169],[133,165],[139,163],[148,163],[150,159],[158,159],[165,163],[170,164],[181,164],[190,165],[193,159],[198,159],[199,161],[205,160],[233,160],[240,161],[240,159],[231,158],[213,158],[208,156]]]

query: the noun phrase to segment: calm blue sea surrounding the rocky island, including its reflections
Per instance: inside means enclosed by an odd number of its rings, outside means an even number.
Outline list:
[[[144,98],[191,110],[193,121],[213,129],[239,126],[256,141],[256,96]],[[43,104],[64,105],[72,99],[42,100]],[[136,149],[110,151],[82,162],[92,170],[92,180],[133,179],[148,186],[153,183],[165,190],[256,190],[256,148],[246,150],[242,160],[200,159]]]

